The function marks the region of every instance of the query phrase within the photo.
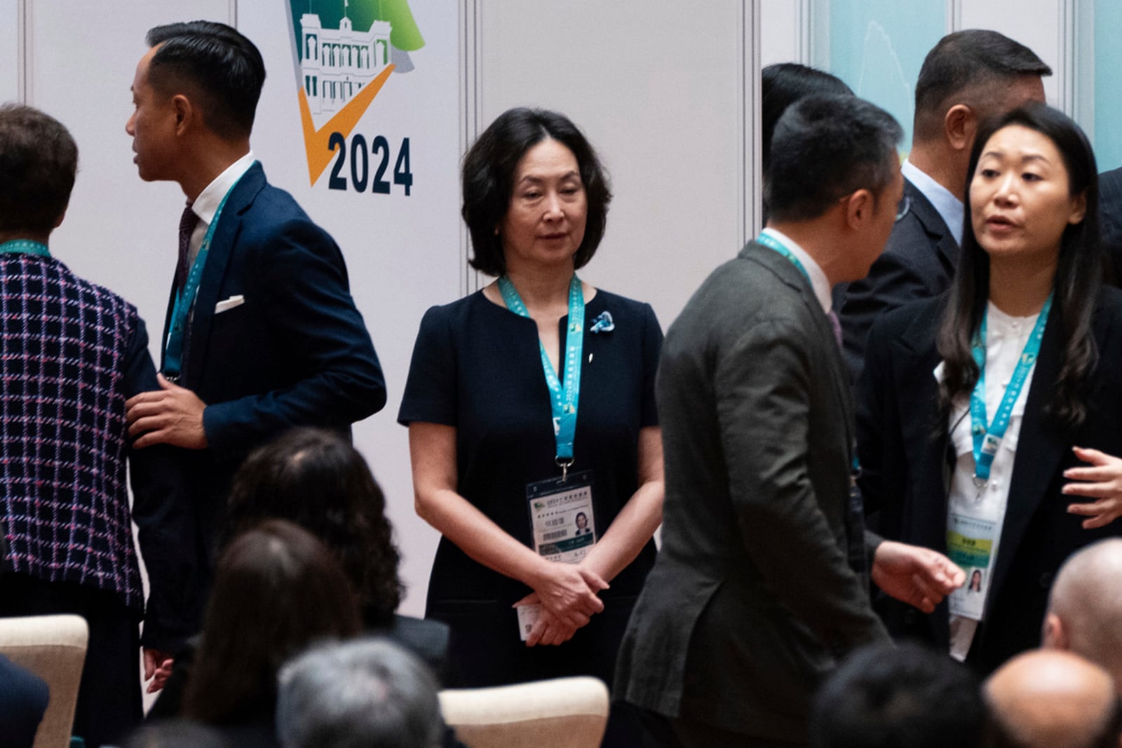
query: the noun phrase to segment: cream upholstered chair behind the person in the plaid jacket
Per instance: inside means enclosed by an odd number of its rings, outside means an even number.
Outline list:
[[[35,748],[70,746],[89,637],[81,616],[0,618],[0,653],[50,687],[50,703],[35,733]]]

